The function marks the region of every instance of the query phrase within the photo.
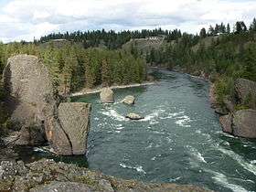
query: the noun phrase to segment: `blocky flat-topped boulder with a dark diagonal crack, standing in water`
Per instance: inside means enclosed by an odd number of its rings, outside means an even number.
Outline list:
[[[52,135],[56,153],[61,155],[85,154],[90,128],[91,104],[63,102],[59,104],[59,127]]]

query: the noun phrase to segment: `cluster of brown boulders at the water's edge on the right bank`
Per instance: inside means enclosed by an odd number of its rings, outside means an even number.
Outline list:
[[[234,83],[235,98],[225,100],[224,107],[219,107],[215,98],[214,87],[210,89],[212,107],[221,116],[219,122],[225,133],[245,138],[256,138],[256,82],[238,79]],[[236,106],[246,106],[236,109]]]

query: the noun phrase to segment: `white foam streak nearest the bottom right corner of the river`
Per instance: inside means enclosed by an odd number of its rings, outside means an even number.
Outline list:
[[[215,172],[215,171],[211,171],[211,170],[205,170],[205,171],[214,175],[214,176],[212,176],[212,178],[215,180],[216,183],[218,183],[222,187],[229,188],[229,189],[231,189],[232,191],[235,191],[235,192],[236,191],[238,191],[238,192],[248,192],[248,190],[245,189],[244,187],[229,183],[228,177],[219,173],[219,172]]]

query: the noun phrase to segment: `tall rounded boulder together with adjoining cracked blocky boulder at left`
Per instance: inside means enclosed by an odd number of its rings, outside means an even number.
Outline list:
[[[48,69],[35,56],[8,59],[4,70],[5,107],[20,129],[15,144],[43,144],[47,137],[58,155],[86,150],[91,105],[60,103]]]

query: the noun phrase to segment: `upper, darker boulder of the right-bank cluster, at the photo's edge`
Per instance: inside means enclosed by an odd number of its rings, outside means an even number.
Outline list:
[[[246,79],[235,81],[235,91],[240,103],[249,102],[251,109],[256,108],[256,82]],[[248,101],[249,100],[249,101]]]

